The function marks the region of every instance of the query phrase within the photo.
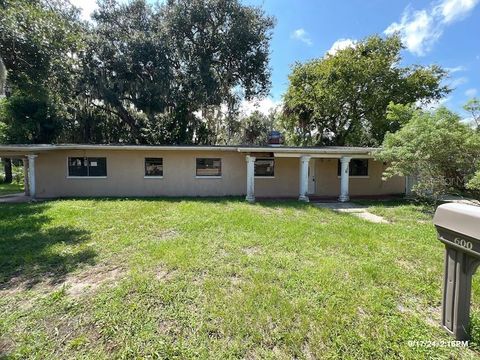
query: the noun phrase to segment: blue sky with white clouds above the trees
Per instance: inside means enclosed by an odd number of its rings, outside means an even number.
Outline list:
[[[72,0],[88,18],[95,2]],[[402,64],[437,64],[450,71],[454,90],[433,106],[459,112],[480,97],[480,0],[243,0],[276,18],[271,42],[272,89],[258,104],[267,112],[278,105],[295,62],[320,58],[372,34],[399,32],[406,49]]]

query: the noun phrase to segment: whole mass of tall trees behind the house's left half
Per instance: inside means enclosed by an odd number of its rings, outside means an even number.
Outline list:
[[[268,93],[274,20],[238,0],[105,0],[88,24],[67,0],[0,7],[9,142],[229,141],[240,100]]]

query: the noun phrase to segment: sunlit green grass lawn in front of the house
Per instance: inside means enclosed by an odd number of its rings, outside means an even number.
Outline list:
[[[0,358],[476,358],[440,328],[431,209],[374,224],[298,202],[0,204]]]

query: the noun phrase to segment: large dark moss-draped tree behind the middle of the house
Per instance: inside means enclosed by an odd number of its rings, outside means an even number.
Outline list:
[[[85,94],[128,127],[127,141],[207,142],[212,129],[198,112],[268,92],[273,20],[256,7],[106,0],[94,19]]]

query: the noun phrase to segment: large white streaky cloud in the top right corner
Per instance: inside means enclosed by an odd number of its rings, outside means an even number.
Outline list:
[[[445,27],[465,18],[480,0],[441,0],[431,2],[428,9],[411,10],[407,7],[400,22],[388,26],[384,33],[398,32],[407,49],[423,56],[442,36]]]

